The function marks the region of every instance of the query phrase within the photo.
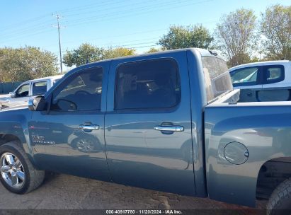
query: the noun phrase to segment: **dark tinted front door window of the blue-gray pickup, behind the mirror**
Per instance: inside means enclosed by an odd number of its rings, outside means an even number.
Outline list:
[[[74,74],[53,93],[52,110],[100,110],[102,79],[102,67]]]

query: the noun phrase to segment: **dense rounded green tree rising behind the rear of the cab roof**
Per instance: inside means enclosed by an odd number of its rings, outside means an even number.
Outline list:
[[[207,49],[213,41],[209,30],[202,25],[171,26],[169,33],[161,37],[158,45],[166,50],[176,50],[188,47]]]

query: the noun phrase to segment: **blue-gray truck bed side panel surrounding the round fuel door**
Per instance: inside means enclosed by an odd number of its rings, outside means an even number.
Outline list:
[[[263,163],[291,156],[290,105],[213,103],[205,108],[205,162],[211,199],[255,206],[256,182]],[[225,146],[232,142],[248,149],[245,163],[236,165],[225,158]]]

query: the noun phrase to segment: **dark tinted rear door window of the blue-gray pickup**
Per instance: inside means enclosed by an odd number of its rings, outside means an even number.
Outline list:
[[[173,59],[118,66],[115,109],[171,108],[180,100],[180,76]]]

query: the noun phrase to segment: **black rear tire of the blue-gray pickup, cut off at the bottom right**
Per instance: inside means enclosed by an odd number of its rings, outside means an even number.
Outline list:
[[[267,204],[268,215],[291,214],[291,178],[276,187]]]

